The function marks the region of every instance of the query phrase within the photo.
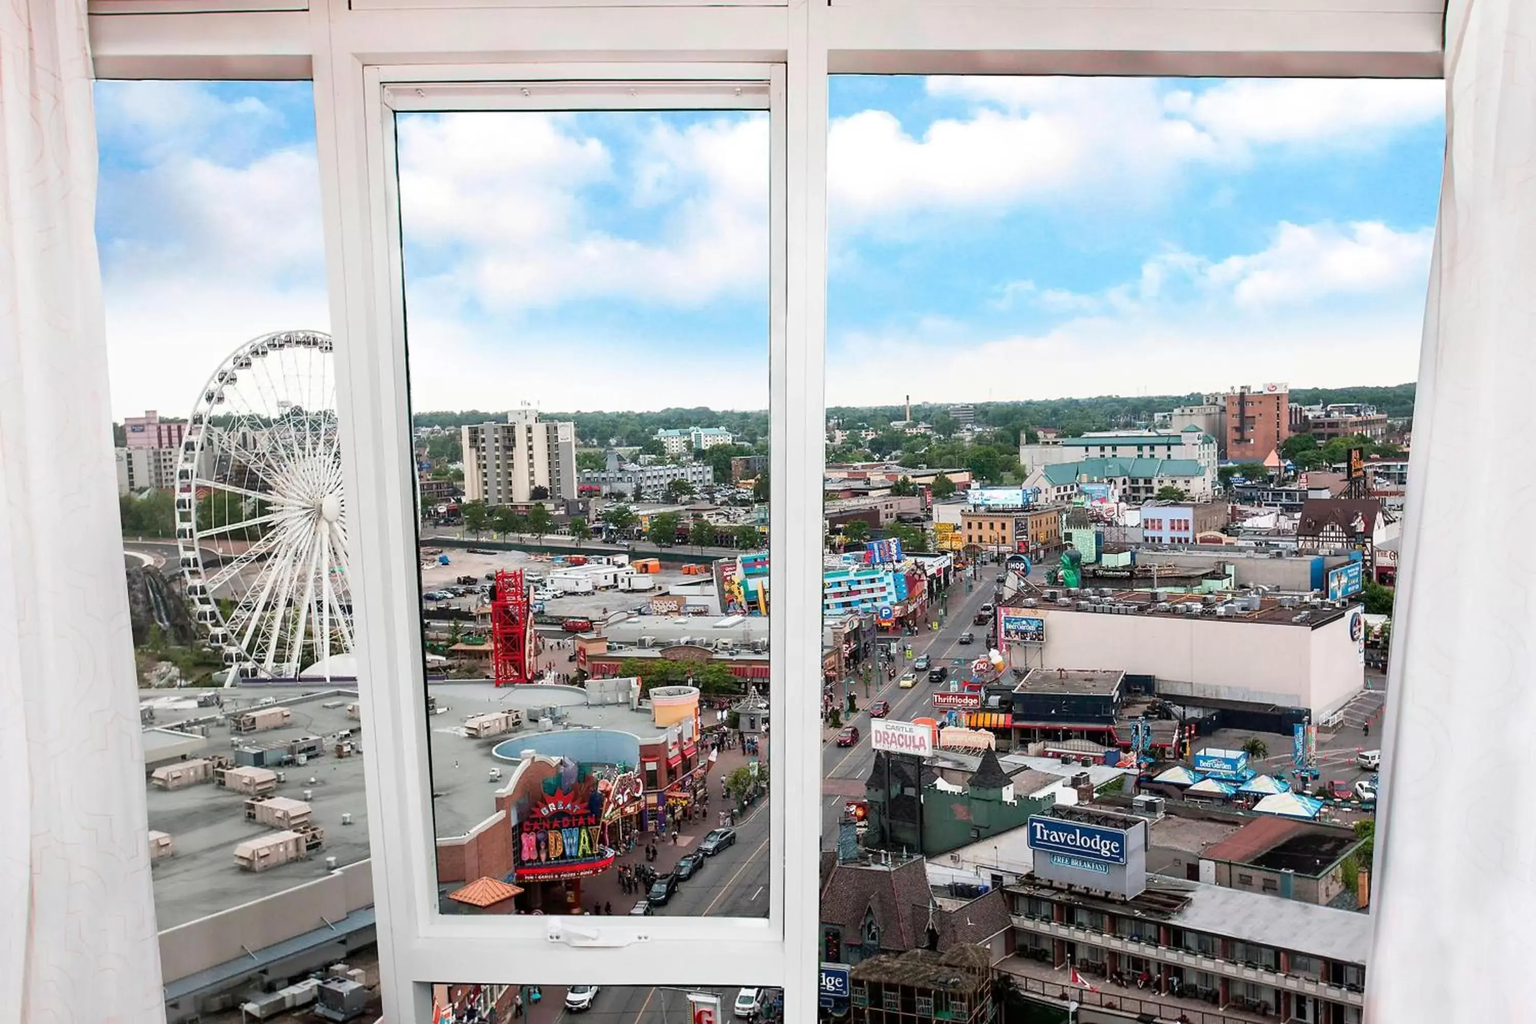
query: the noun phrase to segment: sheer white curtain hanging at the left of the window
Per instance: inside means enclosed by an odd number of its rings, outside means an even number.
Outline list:
[[[86,0],[0,3],[0,1021],[164,1019]]]

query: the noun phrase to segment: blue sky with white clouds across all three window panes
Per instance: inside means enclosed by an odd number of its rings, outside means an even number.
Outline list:
[[[828,401],[1413,379],[1433,81],[831,86]],[[114,411],[326,329],[307,83],[98,83]],[[416,408],[766,402],[760,114],[404,115]]]

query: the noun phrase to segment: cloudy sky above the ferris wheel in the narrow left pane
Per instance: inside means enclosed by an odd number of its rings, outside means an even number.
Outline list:
[[[97,104],[112,411],[184,416],[241,342],[329,330],[313,147],[249,157],[281,114],[197,83],[101,83]]]

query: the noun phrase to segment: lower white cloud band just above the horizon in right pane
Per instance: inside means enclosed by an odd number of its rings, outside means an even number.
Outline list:
[[[1410,381],[1418,368],[1428,229],[1279,224],[1255,253],[1207,259],[1170,250],[1137,278],[1084,295],[1020,281],[1017,306],[1054,319],[988,336],[954,325],[833,338],[828,402],[1186,393],[1244,379],[1307,385]],[[839,393],[857,382],[857,393]]]

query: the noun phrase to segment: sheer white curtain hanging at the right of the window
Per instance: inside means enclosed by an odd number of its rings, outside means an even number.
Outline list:
[[[1536,3],[1452,0],[1366,1019],[1536,1019]]]

